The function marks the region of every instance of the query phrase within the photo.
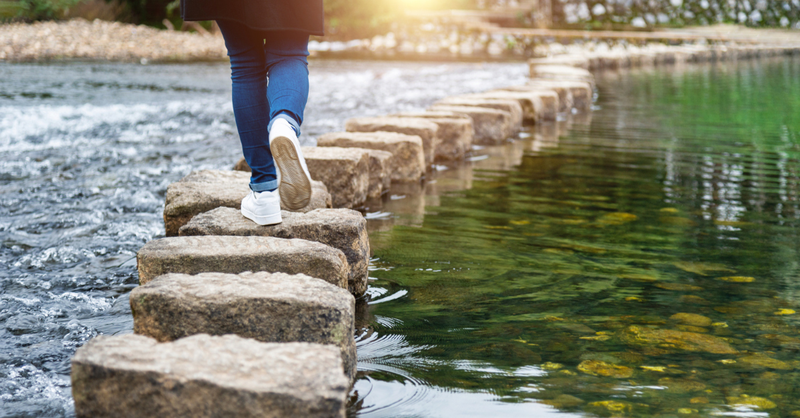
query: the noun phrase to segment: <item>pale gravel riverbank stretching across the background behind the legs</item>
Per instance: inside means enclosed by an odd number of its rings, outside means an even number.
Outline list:
[[[431,26],[347,42],[312,39],[309,51],[336,59],[522,61],[556,55],[662,55],[687,47],[769,49],[798,39],[795,31],[730,25],[646,33],[571,31],[569,39],[565,31]],[[192,62],[225,61],[227,56],[218,35],[83,19],[0,25],[0,62],[64,60]]]

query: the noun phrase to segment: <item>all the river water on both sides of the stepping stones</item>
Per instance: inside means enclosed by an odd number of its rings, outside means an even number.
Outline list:
[[[800,411],[798,70],[602,75],[591,115],[372,204],[349,413]],[[314,61],[304,141],[526,72]],[[167,185],[240,155],[227,75],[0,65],[0,416],[74,415],[71,355],[131,332],[135,252],[163,235]]]

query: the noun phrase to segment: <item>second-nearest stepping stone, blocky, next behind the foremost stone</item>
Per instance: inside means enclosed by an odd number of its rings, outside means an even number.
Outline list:
[[[341,352],[356,373],[356,301],[305,274],[167,274],[131,291],[133,331],[158,341],[236,334],[267,343],[316,343]]]

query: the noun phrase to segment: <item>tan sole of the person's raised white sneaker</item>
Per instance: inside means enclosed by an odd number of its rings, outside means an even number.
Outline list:
[[[292,140],[279,136],[270,143],[275,164],[281,171],[280,189],[281,204],[289,210],[298,210],[308,206],[311,201],[311,179],[303,171],[298,150]]]

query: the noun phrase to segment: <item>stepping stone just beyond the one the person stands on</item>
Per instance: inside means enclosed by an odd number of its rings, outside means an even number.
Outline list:
[[[168,237],[198,213],[221,206],[239,209],[250,193],[250,173],[241,171],[202,170],[167,187],[164,227]],[[311,201],[298,212],[331,207],[331,195],[320,182],[311,182]]]

